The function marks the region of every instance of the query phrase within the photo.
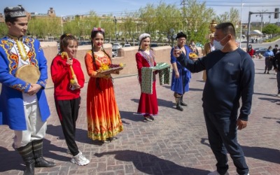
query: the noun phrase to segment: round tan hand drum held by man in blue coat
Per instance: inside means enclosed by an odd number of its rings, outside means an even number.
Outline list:
[[[33,65],[20,66],[15,72],[15,77],[20,78],[28,83],[36,84],[41,76],[38,67]]]

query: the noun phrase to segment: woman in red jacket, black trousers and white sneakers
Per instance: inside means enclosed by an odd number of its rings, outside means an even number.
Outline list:
[[[90,160],[78,150],[75,141],[76,120],[80,109],[80,88],[85,83],[85,77],[78,59],[75,59],[78,41],[71,34],[60,37],[60,52],[52,60],[50,71],[55,85],[55,106],[62,125],[62,131],[70,153],[71,162],[77,165],[87,165]]]

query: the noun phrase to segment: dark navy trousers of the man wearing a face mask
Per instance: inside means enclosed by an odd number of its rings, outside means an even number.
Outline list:
[[[209,113],[204,110],[209,144],[217,160],[217,171],[225,174],[228,171],[228,156],[237,167],[238,174],[248,174],[248,166],[241,146],[237,141],[237,111],[231,115]]]

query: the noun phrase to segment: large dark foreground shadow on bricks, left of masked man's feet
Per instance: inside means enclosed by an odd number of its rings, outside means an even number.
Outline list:
[[[104,155],[115,155],[116,160],[132,162],[140,172],[144,174],[207,174],[209,171],[183,167],[174,162],[158,158],[155,155],[139,151],[109,151],[104,153],[95,153],[95,156],[101,158]],[[133,172],[132,172],[133,173]]]

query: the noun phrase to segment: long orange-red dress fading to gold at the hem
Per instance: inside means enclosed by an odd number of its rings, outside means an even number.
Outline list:
[[[111,64],[107,55],[98,57],[89,51],[85,55],[85,65],[90,80],[87,85],[87,135],[92,140],[105,141],[123,131],[120,111],[116,103],[111,75],[97,78],[97,70],[102,64]]]

